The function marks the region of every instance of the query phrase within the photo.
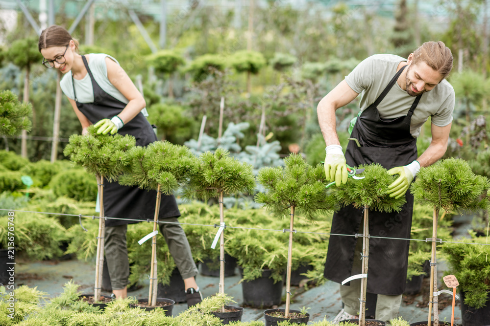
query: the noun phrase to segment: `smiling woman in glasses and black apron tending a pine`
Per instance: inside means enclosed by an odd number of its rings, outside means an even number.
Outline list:
[[[107,54],[78,54],[78,42],[68,31],[57,25],[43,30],[39,37],[43,64],[64,74],[60,86],[72,104],[82,125],[82,134],[95,124],[97,133],[130,134],[138,146],[157,140],[141,113],[145,99],[134,86],[124,69]],[[105,255],[113,293],[127,296],[129,263],[126,247],[127,224],[130,219],[153,218],[156,192],[127,187],[104,180],[104,212],[109,219],[105,227]],[[174,196],[162,196],[159,218],[177,222],[180,212]],[[168,243],[170,253],[184,279],[187,304],[194,305],[202,297],[196,284],[197,268],[189,242],[179,224],[161,223],[160,232]]]

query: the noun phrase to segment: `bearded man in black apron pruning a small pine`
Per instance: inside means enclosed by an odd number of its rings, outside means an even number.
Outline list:
[[[442,42],[426,42],[408,59],[373,55],[361,62],[318,105],[318,119],[327,145],[325,174],[337,186],[347,182],[346,165],[373,162],[398,174],[389,186],[390,196],[406,196],[400,213],[369,211],[369,234],[377,237],[410,238],[414,198],[407,192],[420,167],[442,157],[447,148],[454,109],[454,90],[444,80],[452,68],[451,51]],[[361,94],[360,113],[353,127],[345,156],[336,132],[335,111]],[[417,136],[431,117],[432,141],[417,157]],[[334,214],[332,234],[362,233],[362,209],[343,207]],[[362,238],[331,236],[325,278],[342,283],[361,273]],[[369,245],[368,293],[377,294],[376,309],[368,315],[378,320],[395,318],[405,290],[409,241],[376,239]],[[343,309],[334,319],[357,318],[360,280],[341,285]]]

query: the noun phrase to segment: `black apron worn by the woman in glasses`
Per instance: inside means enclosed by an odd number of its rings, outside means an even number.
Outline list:
[[[93,124],[101,119],[111,119],[113,116],[121,113],[126,104],[106,93],[94,79],[90,71],[87,59],[82,56],[83,64],[87,68],[94,88],[93,103],[79,103],[76,99],[75,86],[72,74],[73,95],[76,107],[90,120]],[[118,130],[122,135],[132,135],[136,138],[136,145],[147,146],[157,140],[153,128],[148,123],[147,118],[139,112],[136,117],[126,123],[123,128]],[[104,178],[104,214],[107,217],[130,218],[153,220],[156,204],[155,190],[142,190],[138,187],[122,186],[117,182],[109,182]],[[180,212],[174,196],[162,194],[159,218],[178,217]],[[106,226],[116,226],[123,224],[137,223],[136,221],[107,219]]]

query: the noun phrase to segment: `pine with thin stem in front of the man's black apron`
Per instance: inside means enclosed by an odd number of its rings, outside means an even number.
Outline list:
[[[388,186],[394,181],[392,175],[387,174],[385,168],[377,163],[361,165],[364,168],[360,174],[362,179],[348,180],[342,187],[335,187],[334,195],[343,205],[353,205],[356,208],[364,207],[364,226],[363,226],[363,249],[362,249],[362,269],[364,275],[368,274],[369,259],[369,210],[380,212],[399,212],[405,203],[405,197],[398,199],[390,197],[387,193]],[[359,323],[359,326],[366,325],[366,296],[367,296],[367,277],[361,278],[361,294],[359,319],[352,320]],[[376,321],[378,325],[384,325],[382,321]]]

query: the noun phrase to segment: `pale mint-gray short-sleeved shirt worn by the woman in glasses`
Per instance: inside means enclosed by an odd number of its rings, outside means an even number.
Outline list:
[[[124,95],[109,81],[107,77],[107,65],[105,64],[105,58],[109,57],[114,60],[118,65],[116,59],[108,54],[104,53],[91,53],[85,55],[89,57],[88,64],[90,71],[94,75],[94,79],[97,84],[106,93],[112,95],[116,99],[123,103],[128,103],[129,101],[124,97]],[[83,79],[74,79],[75,82],[75,92],[76,98],[80,103],[92,103],[94,102],[94,89],[92,87],[92,81],[90,80],[90,75],[87,73]],[[72,83],[72,71],[67,72],[60,81],[60,87],[63,93],[70,99],[74,100],[73,95],[73,83]]]

